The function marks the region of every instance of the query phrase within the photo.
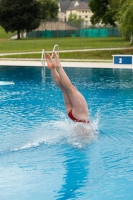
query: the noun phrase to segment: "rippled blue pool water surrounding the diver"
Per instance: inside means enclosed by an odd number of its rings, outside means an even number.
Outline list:
[[[0,67],[0,199],[132,200],[133,71],[65,68],[94,132],[76,134],[49,70]]]

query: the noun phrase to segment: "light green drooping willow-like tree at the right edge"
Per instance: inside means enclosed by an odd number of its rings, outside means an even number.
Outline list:
[[[117,14],[118,28],[121,33],[127,38],[130,38],[130,43],[133,44],[133,1],[126,0],[120,2],[119,11]]]

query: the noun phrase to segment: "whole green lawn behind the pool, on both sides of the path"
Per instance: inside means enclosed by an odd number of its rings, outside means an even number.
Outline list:
[[[121,37],[86,38],[86,37],[64,37],[64,38],[25,38],[21,40],[10,40],[13,33],[6,33],[0,27],[0,53],[12,52],[40,52],[42,49],[52,51],[55,44],[60,50],[94,49],[130,47],[129,41]],[[71,59],[112,59],[113,54],[133,54],[133,50],[108,50],[87,52],[60,53],[60,58]],[[15,56],[0,56],[0,58],[40,58],[40,53]]]

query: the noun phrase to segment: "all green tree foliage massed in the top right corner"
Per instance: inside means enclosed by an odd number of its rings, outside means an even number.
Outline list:
[[[90,0],[94,13],[92,24],[118,25],[121,33],[133,43],[133,0]]]

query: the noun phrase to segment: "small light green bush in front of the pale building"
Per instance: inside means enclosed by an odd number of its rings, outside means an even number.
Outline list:
[[[69,18],[68,18],[68,22],[73,25],[76,26],[78,28],[80,28],[82,26],[84,19],[82,18],[78,18],[76,14],[70,14]]]

